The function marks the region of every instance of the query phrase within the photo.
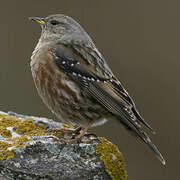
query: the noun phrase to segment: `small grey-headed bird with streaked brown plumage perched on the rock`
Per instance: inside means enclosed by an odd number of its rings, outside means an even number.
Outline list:
[[[29,19],[42,29],[31,56],[32,76],[56,121],[81,130],[77,137],[81,139],[90,127],[116,119],[145,142],[165,165],[165,159],[144,130],[154,133],[153,129],[83,27],[63,14]]]

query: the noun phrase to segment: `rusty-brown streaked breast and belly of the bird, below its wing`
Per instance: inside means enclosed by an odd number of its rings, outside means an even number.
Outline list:
[[[31,70],[40,97],[60,121],[71,125],[85,125],[93,119],[104,122],[107,111],[57,67],[48,50],[32,56]]]

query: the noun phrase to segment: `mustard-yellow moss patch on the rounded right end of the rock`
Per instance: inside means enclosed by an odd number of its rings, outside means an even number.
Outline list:
[[[123,156],[118,148],[103,137],[99,137],[96,154],[100,154],[107,173],[112,180],[126,180],[127,172]]]

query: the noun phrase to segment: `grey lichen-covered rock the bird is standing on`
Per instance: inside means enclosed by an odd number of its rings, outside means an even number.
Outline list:
[[[57,128],[71,128],[47,118],[0,111],[0,179],[119,179],[126,168],[118,148],[105,138],[91,143],[63,143]]]

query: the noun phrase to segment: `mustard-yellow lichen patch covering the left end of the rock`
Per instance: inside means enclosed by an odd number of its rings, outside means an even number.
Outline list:
[[[0,115],[0,135],[6,138],[0,141],[0,160],[13,158],[16,148],[25,148],[25,142],[30,141],[28,136],[52,134],[45,129],[43,124],[35,125],[34,122],[33,119],[21,120],[8,115]],[[21,136],[13,138],[8,127],[16,128],[16,133]]]

